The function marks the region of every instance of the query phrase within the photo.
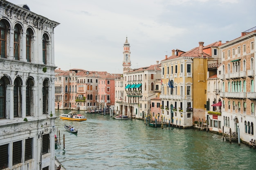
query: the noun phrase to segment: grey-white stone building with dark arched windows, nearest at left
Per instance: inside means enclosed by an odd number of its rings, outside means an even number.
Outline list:
[[[0,169],[54,170],[54,28],[0,2]]]

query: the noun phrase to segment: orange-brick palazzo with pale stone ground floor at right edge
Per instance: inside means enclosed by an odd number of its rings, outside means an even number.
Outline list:
[[[256,139],[254,133],[256,125],[255,41],[256,27],[220,46],[222,54],[220,97],[224,132],[229,132],[231,128],[231,131],[236,133],[239,126],[240,138],[245,142]]]

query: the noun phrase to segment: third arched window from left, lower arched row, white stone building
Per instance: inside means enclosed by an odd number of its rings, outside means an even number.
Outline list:
[[[32,78],[27,79],[26,83],[26,116],[31,116],[32,106],[33,106],[33,90],[32,87],[34,86],[34,81]],[[32,104],[32,105],[31,105]]]

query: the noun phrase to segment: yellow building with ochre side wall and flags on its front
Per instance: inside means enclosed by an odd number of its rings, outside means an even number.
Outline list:
[[[177,126],[193,126],[193,120],[205,117],[207,59],[203,42],[188,52],[172,51],[162,64],[162,114]]]

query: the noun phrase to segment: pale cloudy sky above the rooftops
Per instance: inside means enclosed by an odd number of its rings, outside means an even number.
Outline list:
[[[60,23],[54,56],[61,70],[121,74],[126,37],[131,68],[141,68],[171,56],[173,49],[231,41],[256,26],[255,0],[8,1]]]

